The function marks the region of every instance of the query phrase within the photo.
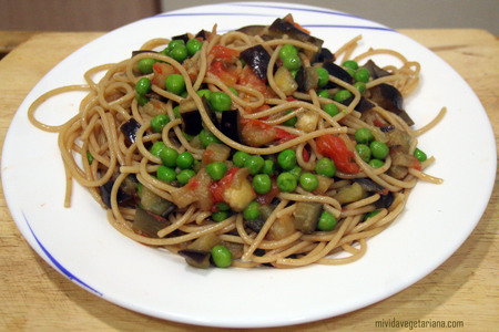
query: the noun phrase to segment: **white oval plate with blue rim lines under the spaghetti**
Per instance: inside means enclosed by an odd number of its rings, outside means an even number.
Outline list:
[[[75,185],[62,207],[64,173],[57,135],[31,126],[28,106],[42,93],[83,83],[83,73],[129,58],[145,40],[184,32],[269,24],[292,12],[332,51],[357,34],[361,49],[395,49],[422,65],[421,84],[406,108],[419,127],[442,106],[444,121],[420,137],[442,185],[419,183],[406,210],[368,240],[359,261],[292,270],[196,270],[174,255],[141,246],[115,231],[105,212]],[[379,60],[379,61],[383,61]],[[62,123],[82,94],[43,104],[38,116]],[[160,14],[114,30],[55,66],[27,96],[9,128],[2,181],[13,219],[33,249],[88,291],[124,308],[172,321],[215,326],[275,326],[343,314],[409,287],[448,259],[479,221],[491,194],[496,148],[486,112],[467,83],[409,38],[375,22],[320,8],[272,2],[225,3]]]

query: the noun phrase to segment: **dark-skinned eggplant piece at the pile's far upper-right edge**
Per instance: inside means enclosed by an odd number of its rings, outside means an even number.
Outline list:
[[[370,91],[370,100],[378,104],[380,107],[397,114],[400,116],[409,126],[414,125],[414,121],[410,118],[409,114],[404,110],[404,98],[400,92],[394,85],[381,83],[376,85]]]

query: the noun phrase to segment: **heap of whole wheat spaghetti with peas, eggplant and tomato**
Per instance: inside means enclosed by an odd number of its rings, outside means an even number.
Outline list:
[[[43,94],[28,116],[59,134],[65,206],[74,179],[132,240],[197,268],[348,263],[418,180],[442,181],[425,173],[435,158],[417,137],[446,108],[419,129],[403,108],[419,63],[360,44],[333,54],[291,15],[159,38],[90,69],[86,85]],[[88,95],[65,124],[37,120],[45,100],[77,90]]]

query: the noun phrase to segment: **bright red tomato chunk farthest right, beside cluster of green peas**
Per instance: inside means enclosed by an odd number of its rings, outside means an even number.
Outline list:
[[[338,170],[344,173],[359,173],[360,168],[354,160],[354,153],[348,149],[345,142],[334,135],[323,135],[316,138],[317,152],[327,156],[335,163]]]

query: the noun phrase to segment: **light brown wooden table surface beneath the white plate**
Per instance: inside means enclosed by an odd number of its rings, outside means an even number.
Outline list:
[[[499,139],[499,42],[482,30],[401,30],[454,66],[471,85]],[[0,43],[8,33],[0,33]],[[101,33],[34,33],[0,61],[0,139],[34,84]],[[26,35],[21,34],[24,39]],[[142,315],[72,283],[24,241],[0,195],[0,330],[211,331]],[[376,321],[460,321],[458,331],[499,330],[499,186],[478,227],[444,264],[410,288],[342,317],[296,331],[377,331]],[[396,331],[399,329],[386,329]],[[406,329],[408,330],[408,329]],[[421,329],[424,330],[424,329]],[[431,329],[436,331],[437,329]],[[213,329],[215,331],[215,329]]]

